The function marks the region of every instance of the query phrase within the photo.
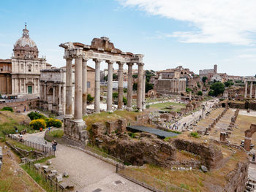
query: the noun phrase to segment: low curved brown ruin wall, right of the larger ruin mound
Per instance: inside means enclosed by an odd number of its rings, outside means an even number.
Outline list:
[[[200,155],[208,169],[217,169],[222,164],[222,151],[214,144],[194,142],[184,139],[173,139],[173,145],[178,150],[186,150],[190,153]]]

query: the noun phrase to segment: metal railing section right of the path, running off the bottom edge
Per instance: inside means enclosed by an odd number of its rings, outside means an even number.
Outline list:
[[[184,188],[179,188],[176,185],[171,185],[170,183],[167,183],[165,181],[158,180],[155,177],[151,177],[148,174],[138,172],[135,169],[131,169],[122,164],[116,164],[116,172],[118,174],[121,174],[121,176],[127,178],[128,180],[132,180],[134,183],[138,183],[139,185],[142,185],[143,187],[148,188],[151,191],[157,191],[157,192],[160,192],[160,191],[165,191],[165,192],[185,191],[185,192],[189,192]]]

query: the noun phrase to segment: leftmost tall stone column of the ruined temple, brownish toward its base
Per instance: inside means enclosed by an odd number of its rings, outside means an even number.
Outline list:
[[[72,118],[72,58],[66,58],[65,118]]]

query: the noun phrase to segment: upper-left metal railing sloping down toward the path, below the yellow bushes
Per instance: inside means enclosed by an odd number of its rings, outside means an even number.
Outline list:
[[[48,147],[36,142],[27,141],[25,139],[20,139],[19,137],[13,134],[8,134],[8,137],[10,139],[15,140],[15,142],[20,142],[21,144],[26,145],[27,147],[31,147],[31,148],[34,148],[35,150],[41,151],[42,153],[45,154],[45,156],[55,155],[55,151],[53,150],[52,147]]]

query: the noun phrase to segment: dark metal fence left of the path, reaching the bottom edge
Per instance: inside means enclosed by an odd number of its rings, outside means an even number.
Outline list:
[[[50,192],[69,192],[69,190],[63,188],[58,182],[57,180],[54,180],[52,178],[50,178],[48,176],[48,174],[45,174],[45,172],[42,169],[36,169],[36,167],[34,166],[34,164],[31,161],[26,161],[25,166],[27,166],[26,168],[29,168],[31,171],[33,172],[37,172],[38,174],[41,175],[42,179],[45,182],[44,187],[47,188],[46,191],[50,191]]]

